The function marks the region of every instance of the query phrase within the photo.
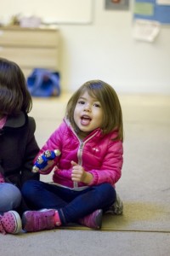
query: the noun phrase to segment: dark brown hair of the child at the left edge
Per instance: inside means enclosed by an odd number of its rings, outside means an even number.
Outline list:
[[[0,114],[29,113],[31,108],[31,95],[20,67],[13,61],[0,58]]]

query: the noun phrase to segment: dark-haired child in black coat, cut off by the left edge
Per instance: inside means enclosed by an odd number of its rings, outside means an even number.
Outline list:
[[[26,79],[13,61],[0,58],[0,232],[21,230],[20,214],[26,211],[20,188],[26,180],[39,179],[32,161],[39,148],[36,124],[28,117],[32,101]]]

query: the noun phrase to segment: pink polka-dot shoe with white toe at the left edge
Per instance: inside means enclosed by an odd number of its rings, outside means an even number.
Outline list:
[[[21,227],[21,219],[18,212],[9,211],[0,215],[0,232],[3,235],[6,233],[17,234],[20,232]]]

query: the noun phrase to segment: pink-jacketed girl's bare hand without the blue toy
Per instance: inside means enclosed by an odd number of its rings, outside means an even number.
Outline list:
[[[72,173],[71,180],[73,182],[91,183],[93,175],[90,172],[86,172],[82,166],[79,166],[76,162],[71,161]]]

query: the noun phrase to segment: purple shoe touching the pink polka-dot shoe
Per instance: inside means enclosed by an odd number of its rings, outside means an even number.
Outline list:
[[[36,232],[40,230],[53,230],[55,210],[43,209],[41,211],[27,211],[23,213],[23,230]]]

